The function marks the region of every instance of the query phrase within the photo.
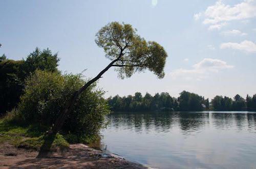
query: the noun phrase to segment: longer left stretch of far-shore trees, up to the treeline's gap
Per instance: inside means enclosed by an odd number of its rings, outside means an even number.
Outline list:
[[[136,92],[134,96],[118,95],[107,99],[112,111],[202,111],[209,109],[209,100],[195,93],[183,91],[178,98],[166,92],[143,97]],[[205,106],[203,106],[203,104]]]

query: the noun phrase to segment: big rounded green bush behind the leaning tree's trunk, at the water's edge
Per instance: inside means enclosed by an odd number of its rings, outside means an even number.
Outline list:
[[[62,113],[71,95],[81,88],[86,80],[81,74],[65,74],[36,70],[25,81],[25,94],[20,98],[18,111],[26,123],[52,126]],[[102,98],[104,92],[92,85],[82,93],[61,132],[78,138],[94,137],[105,126],[104,116],[109,109]],[[81,139],[75,139],[80,142]]]

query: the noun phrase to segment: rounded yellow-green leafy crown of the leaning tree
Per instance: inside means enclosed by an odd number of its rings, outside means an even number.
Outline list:
[[[163,78],[167,53],[157,42],[147,42],[136,32],[131,24],[111,22],[98,31],[95,42],[111,61],[121,57],[116,63],[121,78],[146,69]]]

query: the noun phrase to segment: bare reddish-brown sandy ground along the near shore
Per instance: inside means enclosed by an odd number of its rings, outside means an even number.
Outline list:
[[[150,168],[83,144],[49,153],[47,158],[36,158],[37,154],[6,144],[0,148],[0,168]]]

